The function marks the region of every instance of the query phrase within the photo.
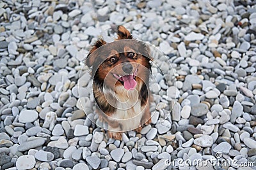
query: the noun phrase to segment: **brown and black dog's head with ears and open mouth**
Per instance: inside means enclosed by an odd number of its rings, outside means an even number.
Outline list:
[[[147,45],[132,39],[123,26],[118,26],[117,35],[111,43],[98,39],[90,50],[86,65],[92,67],[94,81],[100,87],[126,90],[135,89],[143,82],[147,84],[151,71]]]

